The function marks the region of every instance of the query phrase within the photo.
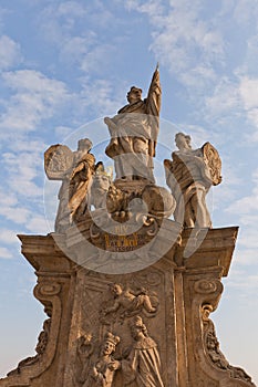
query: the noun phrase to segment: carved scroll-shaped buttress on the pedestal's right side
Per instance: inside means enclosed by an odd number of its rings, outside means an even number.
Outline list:
[[[199,279],[200,273],[193,273],[193,276],[188,273],[187,276],[187,287],[192,292],[192,316],[187,326],[194,337],[196,364],[193,368],[190,366],[190,380],[198,386],[209,386],[209,383],[217,387],[255,386],[244,369],[228,363],[219,349],[215,326],[209,318],[223,292],[218,269],[210,268],[209,272],[203,273],[203,279]]]

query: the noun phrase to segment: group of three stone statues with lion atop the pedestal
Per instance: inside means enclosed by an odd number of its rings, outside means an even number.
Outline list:
[[[132,86],[128,104],[114,117],[104,118],[111,136],[105,153],[114,161],[114,181],[103,163],[96,163],[89,138],[80,139],[75,151],[64,145],[53,145],[45,151],[48,178],[62,180],[56,232],[83,220],[92,208],[107,210],[115,215],[115,220],[125,221],[132,199],[142,206],[137,210],[143,211],[145,202],[147,213],[156,217],[173,213],[175,221],[185,228],[211,227],[206,195],[221,181],[221,161],[213,145],[205,143],[193,149],[190,136],[177,133],[178,150],[172,153],[172,160],[164,160],[171,192],[155,185],[153,157],[159,132],[161,96],[156,67],[146,98],[142,98],[141,88]]]

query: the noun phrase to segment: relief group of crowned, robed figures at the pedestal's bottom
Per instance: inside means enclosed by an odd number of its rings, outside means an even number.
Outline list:
[[[125,343],[131,336],[132,344]],[[121,344],[120,344],[121,343]],[[122,348],[115,354],[116,346]],[[161,376],[161,359],[156,342],[148,335],[140,315],[132,317],[122,336],[106,332],[103,341],[93,343],[91,335],[81,336],[78,342],[76,386],[82,387],[164,387]]]

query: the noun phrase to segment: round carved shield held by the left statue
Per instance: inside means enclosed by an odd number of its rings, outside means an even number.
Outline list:
[[[62,180],[72,170],[73,153],[65,145],[51,145],[44,153],[44,170],[50,180]]]

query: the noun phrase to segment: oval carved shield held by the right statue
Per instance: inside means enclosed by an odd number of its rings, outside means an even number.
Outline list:
[[[221,160],[217,149],[210,144],[205,143],[202,147],[205,168],[203,177],[213,186],[221,182]]]

